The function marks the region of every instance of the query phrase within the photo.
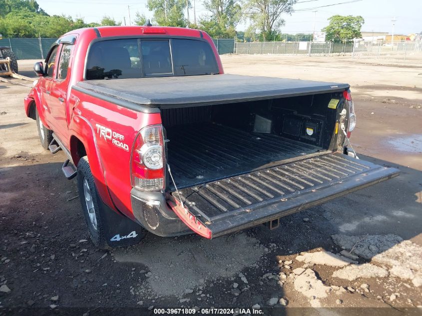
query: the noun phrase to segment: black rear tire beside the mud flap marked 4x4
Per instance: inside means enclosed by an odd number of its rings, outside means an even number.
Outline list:
[[[88,190],[90,193],[90,199],[92,201],[92,208],[88,210],[88,204],[85,196],[84,184],[88,184]],[[103,217],[104,210],[99,198],[97,188],[94,183],[94,176],[91,173],[91,168],[89,167],[88,157],[84,156],[80,158],[77,166],[77,187],[79,191],[80,204],[83,210],[83,217],[85,218],[86,225],[88,226],[88,234],[92,243],[101,250],[109,249],[107,242],[105,240],[105,219]],[[93,224],[92,217],[90,213],[95,215],[95,225]]]

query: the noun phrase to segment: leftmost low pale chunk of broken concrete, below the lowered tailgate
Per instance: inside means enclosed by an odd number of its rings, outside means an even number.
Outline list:
[[[327,293],[331,291],[321,280],[317,279],[315,272],[306,269],[304,273],[298,276],[294,281],[295,290],[307,296],[308,298],[326,298]]]

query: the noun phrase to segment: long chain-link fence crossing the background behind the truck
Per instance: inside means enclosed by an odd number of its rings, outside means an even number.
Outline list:
[[[3,38],[0,46],[11,47],[18,59],[43,59],[56,38]],[[213,39],[219,54],[350,55],[352,58],[406,59],[422,52],[422,41],[333,42],[236,42],[233,38]]]

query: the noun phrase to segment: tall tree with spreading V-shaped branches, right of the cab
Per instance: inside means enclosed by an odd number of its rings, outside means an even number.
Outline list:
[[[274,40],[285,20],[282,14],[292,14],[297,0],[245,0],[245,13],[263,38]]]

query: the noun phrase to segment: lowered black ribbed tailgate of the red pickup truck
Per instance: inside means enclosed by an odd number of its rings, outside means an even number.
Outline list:
[[[189,214],[199,219],[211,231],[211,238],[215,238],[398,175],[399,170],[394,168],[331,153],[179,192]],[[177,194],[172,195],[178,198]]]

